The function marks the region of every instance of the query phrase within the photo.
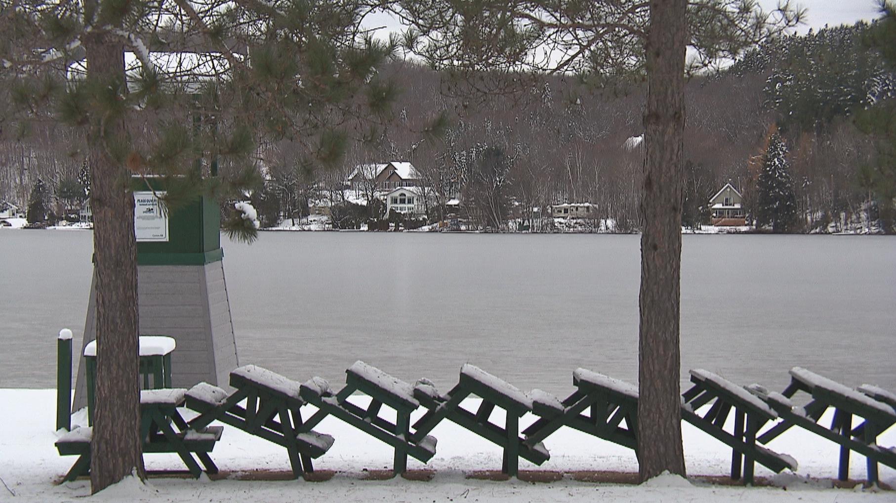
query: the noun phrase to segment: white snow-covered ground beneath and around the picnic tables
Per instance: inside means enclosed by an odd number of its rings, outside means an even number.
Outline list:
[[[74,456],[59,456],[53,447],[56,433],[56,395],[54,390],[0,389],[5,404],[4,431],[0,436],[0,501],[45,502],[73,501],[90,494],[90,482],[79,480],[58,484],[74,462]],[[465,403],[475,407],[476,403]],[[83,414],[75,415],[83,421]],[[493,416],[492,420],[499,420]],[[524,417],[521,426],[532,418]],[[660,477],[641,486],[621,483],[625,473],[636,473],[632,451],[591,438],[570,429],[561,429],[547,438],[551,459],[540,467],[521,460],[521,470],[549,471],[538,478],[555,481],[494,481],[469,478],[481,471],[500,470],[501,450],[469,431],[443,422],[433,435],[439,439],[435,457],[428,464],[409,459],[409,470],[433,470],[430,481],[365,480],[376,471],[392,465],[392,450],[382,442],[331,418],[318,431],[330,433],[336,443],[323,457],[315,460],[320,473],[335,472],[328,481],[284,480],[289,471],[286,451],[236,428],[226,426],[218,446],[211,453],[224,478],[211,481],[206,476],[190,478],[153,476],[147,486],[125,480],[100,492],[91,501],[170,501],[198,503],[208,501],[420,501],[420,502],[492,502],[556,501],[602,502],[692,501],[715,503],[737,500],[754,503],[800,501],[828,503],[847,501],[896,501],[889,490],[832,489],[836,477],[838,448],[801,429],[771,442],[772,449],[794,456],[797,473],[775,475],[756,466],[756,475],[770,481],[771,487],[745,488],[724,486],[702,480],[700,475],[728,474],[730,450],[715,439],[685,423],[685,458],[689,481]],[[883,446],[896,443],[896,429],[880,439]],[[176,455],[146,455],[149,470],[182,470]],[[606,474],[609,472],[610,474]],[[419,473],[419,472],[418,472]],[[582,481],[582,476],[609,477],[612,481]],[[881,480],[896,485],[896,470],[880,467]],[[865,478],[865,460],[852,455],[850,477]],[[525,477],[523,477],[525,478]],[[262,480],[267,479],[267,480]],[[273,479],[273,480],[271,480]],[[606,478],[604,479],[606,480]]]

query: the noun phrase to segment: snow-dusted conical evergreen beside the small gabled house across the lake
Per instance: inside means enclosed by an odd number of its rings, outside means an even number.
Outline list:
[[[788,173],[788,149],[780,134],[769,138],[762,172],[756,181],[756,227],[771,227],[772,232],[792,230],[797,222],[797,196]]]

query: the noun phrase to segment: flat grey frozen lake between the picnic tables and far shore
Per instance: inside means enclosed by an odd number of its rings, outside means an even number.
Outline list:
[[[80,347],[90,231],[0,230],[0,387],[55,386]],[[638,236],[266,232],[225,242],[237,349],[297,380],[366,362],[447,391],[470,362],[558,395],[636,382]],[[799,365],[896,390],[896,238],[685,236],[682,369],[782,389]]]

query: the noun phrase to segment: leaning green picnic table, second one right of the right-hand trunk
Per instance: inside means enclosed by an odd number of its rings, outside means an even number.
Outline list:
[[[762,444],[778,438],[788,429],[799,426],[840,445],[838,478],[849,479],[849,451],[866,456],[867,477],[870,483],[878,481],[877,464],[896,468],[896,452],[877,446],[877,437],[896,422],[896,396],[876,386],[859,386],[849,389],[827,377],[812,371],[794,367],[790,369],[790,384],[781,393],[771,392],[759,385],[749,386],[756,396],[768,403],[780,415],[782,421],[759,436]],[[811,396],[800,407],[791,398],[803,392]],[[824,412],[834,410],[831,427],[821,421]],[[853,428],[853,418],[861,421]]]

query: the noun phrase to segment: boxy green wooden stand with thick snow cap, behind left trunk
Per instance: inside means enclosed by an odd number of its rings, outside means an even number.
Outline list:
[[[171,352],[177,343],[167,335],[141,335],[139,372],[142,389],[171,387]],[[87,377],[87,424],[93,424],[93,403],[97,379],[97,341],[84,346],[85,376]]]

